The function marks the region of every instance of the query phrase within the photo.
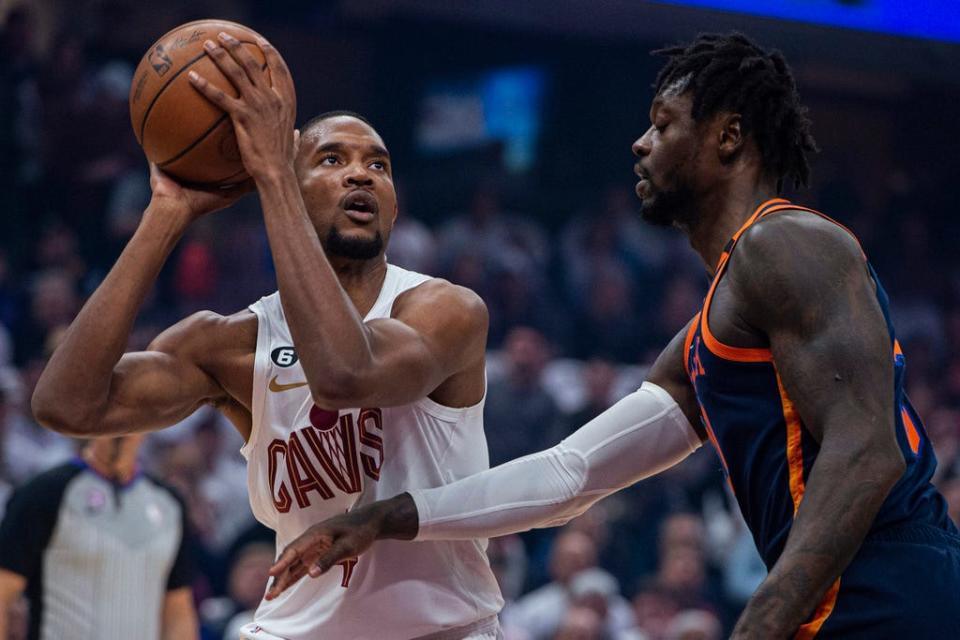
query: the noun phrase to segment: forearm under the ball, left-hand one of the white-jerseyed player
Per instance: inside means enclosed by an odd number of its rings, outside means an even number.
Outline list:
[[[116,264],[70,324],[33,394],[34,414],[45,426],[83,435],[105,410],[113,369],[137,313],[183,233],[178,219],[151,204]]]

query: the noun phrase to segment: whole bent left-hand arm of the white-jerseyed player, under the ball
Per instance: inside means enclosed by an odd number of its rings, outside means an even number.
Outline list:
[[[249,184],[216,192],[185,189],[151,167],[153,197],[116,264],[71,323],[40,376],[33,411],[44,426],[94,436],[167,426],[223,390],[196,362],[188,319],[161,336],[163,348],[123,356],[134,320],[157,274],[190,222],[225,207]],[[191,330],[193,330],[191,332]],[[123,357],[121,357],[123,356]]]

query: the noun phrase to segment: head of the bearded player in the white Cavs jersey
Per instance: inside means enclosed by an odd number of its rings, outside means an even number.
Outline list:
[[[331,111],[307,122],[296,170],[328,255],[370,260],[383,253],[397,217],[397,193],[390,154],[366,118]]]

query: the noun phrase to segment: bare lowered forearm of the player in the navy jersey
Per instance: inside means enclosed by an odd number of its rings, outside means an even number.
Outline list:
[[[783,553],[732,638],[792,637],[856,555],[902,473],[898,452],[825,441]]]

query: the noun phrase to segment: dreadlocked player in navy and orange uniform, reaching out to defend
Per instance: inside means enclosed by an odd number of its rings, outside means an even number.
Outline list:
[[[703,258],[700,313],[637,392],[553,449],[313,526],[271,594],[377,538],[565,522],[709,439],[769,569],[734,638],[960,637],[960,536],[887,296],[849,231],[779,197],[815,150],[786,62],[739,34],[659,53],[637,195]]]

